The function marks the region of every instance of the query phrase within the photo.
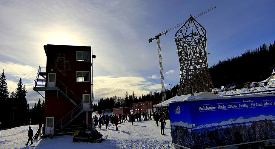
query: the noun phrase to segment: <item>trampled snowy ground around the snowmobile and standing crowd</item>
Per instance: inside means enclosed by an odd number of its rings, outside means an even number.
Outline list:
[[[87,143],[87,142],[72,142],[73,135],[56,136],[53,139],[43,138],[34,140],[33,145],[25,145],[28,137],[28,127],[21,126],[7,130],[1,130],[0,133],[0,148],[1,149],[168,149],[168,142],[170,149],[174,149],[171,144],[170,121],[166,121],[165,134],[160,135],[160,124],[156,127],[156,122],[138,121],[132,125],[130,122],[118,125],[118,131],[113,125],[109,125],[106,129],[105,125],[98,131],[103,136],[108,136],[105,141],[101,143]],[[38,130],[38,125],[31,125],[33,133]]]

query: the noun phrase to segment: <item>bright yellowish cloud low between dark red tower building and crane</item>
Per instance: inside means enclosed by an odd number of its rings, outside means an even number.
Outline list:
[[[146,82],[142,77],[114,77],[114,76],[97,76],[93,77],[93,89],[95,100],[100,97],[106,98],[116,95],[125,97],[126,91],[132,94],[135,91],[137,97],[147,94],[150,91],[161,88],[161,85],[152,82]]]

